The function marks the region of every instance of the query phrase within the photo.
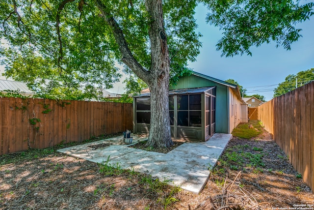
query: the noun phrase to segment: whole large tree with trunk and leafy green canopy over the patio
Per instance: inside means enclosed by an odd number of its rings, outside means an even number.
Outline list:
[[[74,88],[110,85],[115,62],[123,62],[151,90],[148,145],[169,147],[170,75],[189,72],[187,61],[199,53],[199,3],[224,31],[217,48],[226,56],[250,54],[251,46],[272,40],[289,49],[300,36],[294,25],[313,14],[313,3],[299,0],[6,0],[0,36],[9,47],[0,52],[8,71],[28,77],[40,69]]]

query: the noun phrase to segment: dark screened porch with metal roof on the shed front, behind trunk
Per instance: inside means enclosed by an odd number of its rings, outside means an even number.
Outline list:
[[[148,133],[150,93],[133,98],[133,132]],[[216,88],[169,90],[169,115],[173,138],[207,141],[215,132]]]

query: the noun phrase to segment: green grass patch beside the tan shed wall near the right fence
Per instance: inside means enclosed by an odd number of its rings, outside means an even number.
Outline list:
[[[253,129],[249,128],[250,124],[254,126]],[[262,133],[262,128],[259,120],[250,120],[247,123],[238,124],[232,131],[232,135],[241,139],[251,139],[260,135]]]

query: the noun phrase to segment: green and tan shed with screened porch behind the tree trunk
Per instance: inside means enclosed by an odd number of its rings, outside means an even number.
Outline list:
[[[247,105],[236,85],[197,72],[169,88],[171,135],[207,141],[217,133],[231,133],[247,121]],[[148,133],[150,93],[133,97],[133,132]]]

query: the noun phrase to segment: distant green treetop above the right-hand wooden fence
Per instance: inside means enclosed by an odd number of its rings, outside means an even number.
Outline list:
[[[309,82],[314,81],[314,68],[306,71],[300,71],[296,75],[289,74],[285,81],[280,83],[274,90],[274,97],[283,95],[291,90],[301,87]]]

